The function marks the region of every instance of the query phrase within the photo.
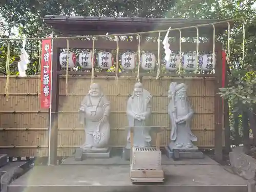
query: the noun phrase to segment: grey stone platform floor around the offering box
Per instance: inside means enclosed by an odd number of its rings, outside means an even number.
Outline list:
[[[105,162],[105,164],[96,165]],[[94,163],[93,163],[94,162]],[[113,165],[113,163],[119,163]],[[128,163],[128,164],[127,164]],[[129,161],[95,159],[74,161],[66,159],[62,165],[32,168],[28,173],[13,181],[9,192],[243,192],[247,191],[246,181],[227,172],[214,160],[206,157],[200,160],[173,161],[163,157],[165,174],[163,184],[132,184]]]

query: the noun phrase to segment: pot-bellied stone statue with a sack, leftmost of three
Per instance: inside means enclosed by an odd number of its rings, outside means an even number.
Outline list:
[[[83,98],[80,109],[80,123],[85,124],[86,141],[80,147],[83,152],[108,151],[110,138],[110,101],[101,92],[100,86],[93,83],[89,93]]]

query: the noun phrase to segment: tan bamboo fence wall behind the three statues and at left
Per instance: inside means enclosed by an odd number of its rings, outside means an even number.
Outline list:
[[[59,87],[59,132],[58,156],[71,156],[84,140],[84,131],[78,121],[78,109],[88,93],[91,77],[69,77],[66,95],[65,77],[60,78]],[[169,142],[170,127],[167,114],[167,91],[171,81],[188,85],[188,96],[195,111],[192,121],[193,133],[198,136],[196,145],[201,148],[214,147],[214,87],[212,78],[162,78],[144,77],[144,88],[153,95],[152,125],[166,127],[161,134],[161,145]],[[5,98],[6,77],[0,77],[0,153],[13,156],[48,156],[48,111],[40,111],[38,77],[10,79],[9,99]],[[111,139],[116,147],[125,145],[127,120],[126,101],[132,94],[135,77],[97,77],[103,93],[111,101]],[[224,133],[224,132],[223,132]],[[224,138],[224,137],[223,137]],[[155,138],[153,138],[153,143]]]

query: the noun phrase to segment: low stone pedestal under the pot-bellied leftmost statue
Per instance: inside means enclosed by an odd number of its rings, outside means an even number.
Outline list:
[[[78,148],[75,153],[75,160],[82,161],[86,158],[110,158],[111,148],[101,148],[97,151],[84,151],[81,148]]]

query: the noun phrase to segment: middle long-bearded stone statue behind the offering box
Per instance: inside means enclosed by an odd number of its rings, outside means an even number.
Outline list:
[[[152,95],[143,89],[142,83],[137,82],[134,86],[134,92],[127,101],[127,119],[129,127],[139,126],[134,129],[133,146],[146,147],[150,146],[151,136],[150,129],[143,127],[147,125],[147,120],[151,115],[151,101]],[[131,130],[129,129],[127,135],[127,149],[131,148]]]

